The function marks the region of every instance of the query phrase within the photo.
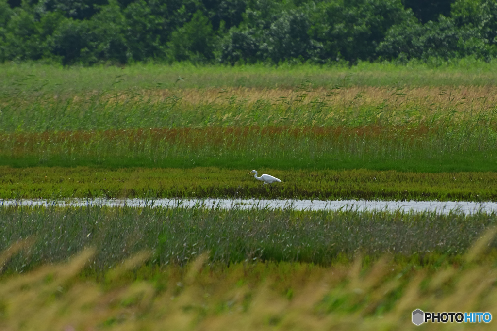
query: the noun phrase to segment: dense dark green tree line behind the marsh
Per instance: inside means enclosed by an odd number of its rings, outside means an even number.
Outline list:
[[[496,0],[0,0],[0,62],[497,56]]]

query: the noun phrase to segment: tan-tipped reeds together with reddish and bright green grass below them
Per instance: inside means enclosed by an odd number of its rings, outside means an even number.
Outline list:
[[[8,97],[0,164],[497,170],[490,88],[147,93]]]

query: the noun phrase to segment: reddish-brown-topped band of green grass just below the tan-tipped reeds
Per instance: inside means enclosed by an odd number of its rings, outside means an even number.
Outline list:
[[[0,134],[0,165],[497,171],[497,135],[480,126],[461,131],[252,127],[6,133]]]

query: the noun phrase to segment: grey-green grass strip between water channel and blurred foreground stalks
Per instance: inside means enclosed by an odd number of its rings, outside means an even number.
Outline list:
[[[65,261],[84,247],[101,274],[132,254],[152,252],[153,265],[185,265],[206,253],[210,263],[249,261],[333,265],[356,254],[399,263],[459,263],[495,214],[89,207],[0,207],[0,250],[29,239],[3,271],[25,272]],[[489,243],[495,253],[497,242]],[[494,252],[494,253],[492,253]]]

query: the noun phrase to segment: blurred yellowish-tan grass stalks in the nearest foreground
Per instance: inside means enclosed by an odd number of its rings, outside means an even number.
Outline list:
[[[68,263],[0,278],[0,329],[16,330],[416,330],[415,309],[497,316],[497,268],[481,260],[491,229],[461,265],[436,270],[374,264],[147,264],[137,253],[95,281],[95,250]],[[0,255],[0,267],[29,241]],[[489,324],[424,324],[420,330],[495,330]]]

